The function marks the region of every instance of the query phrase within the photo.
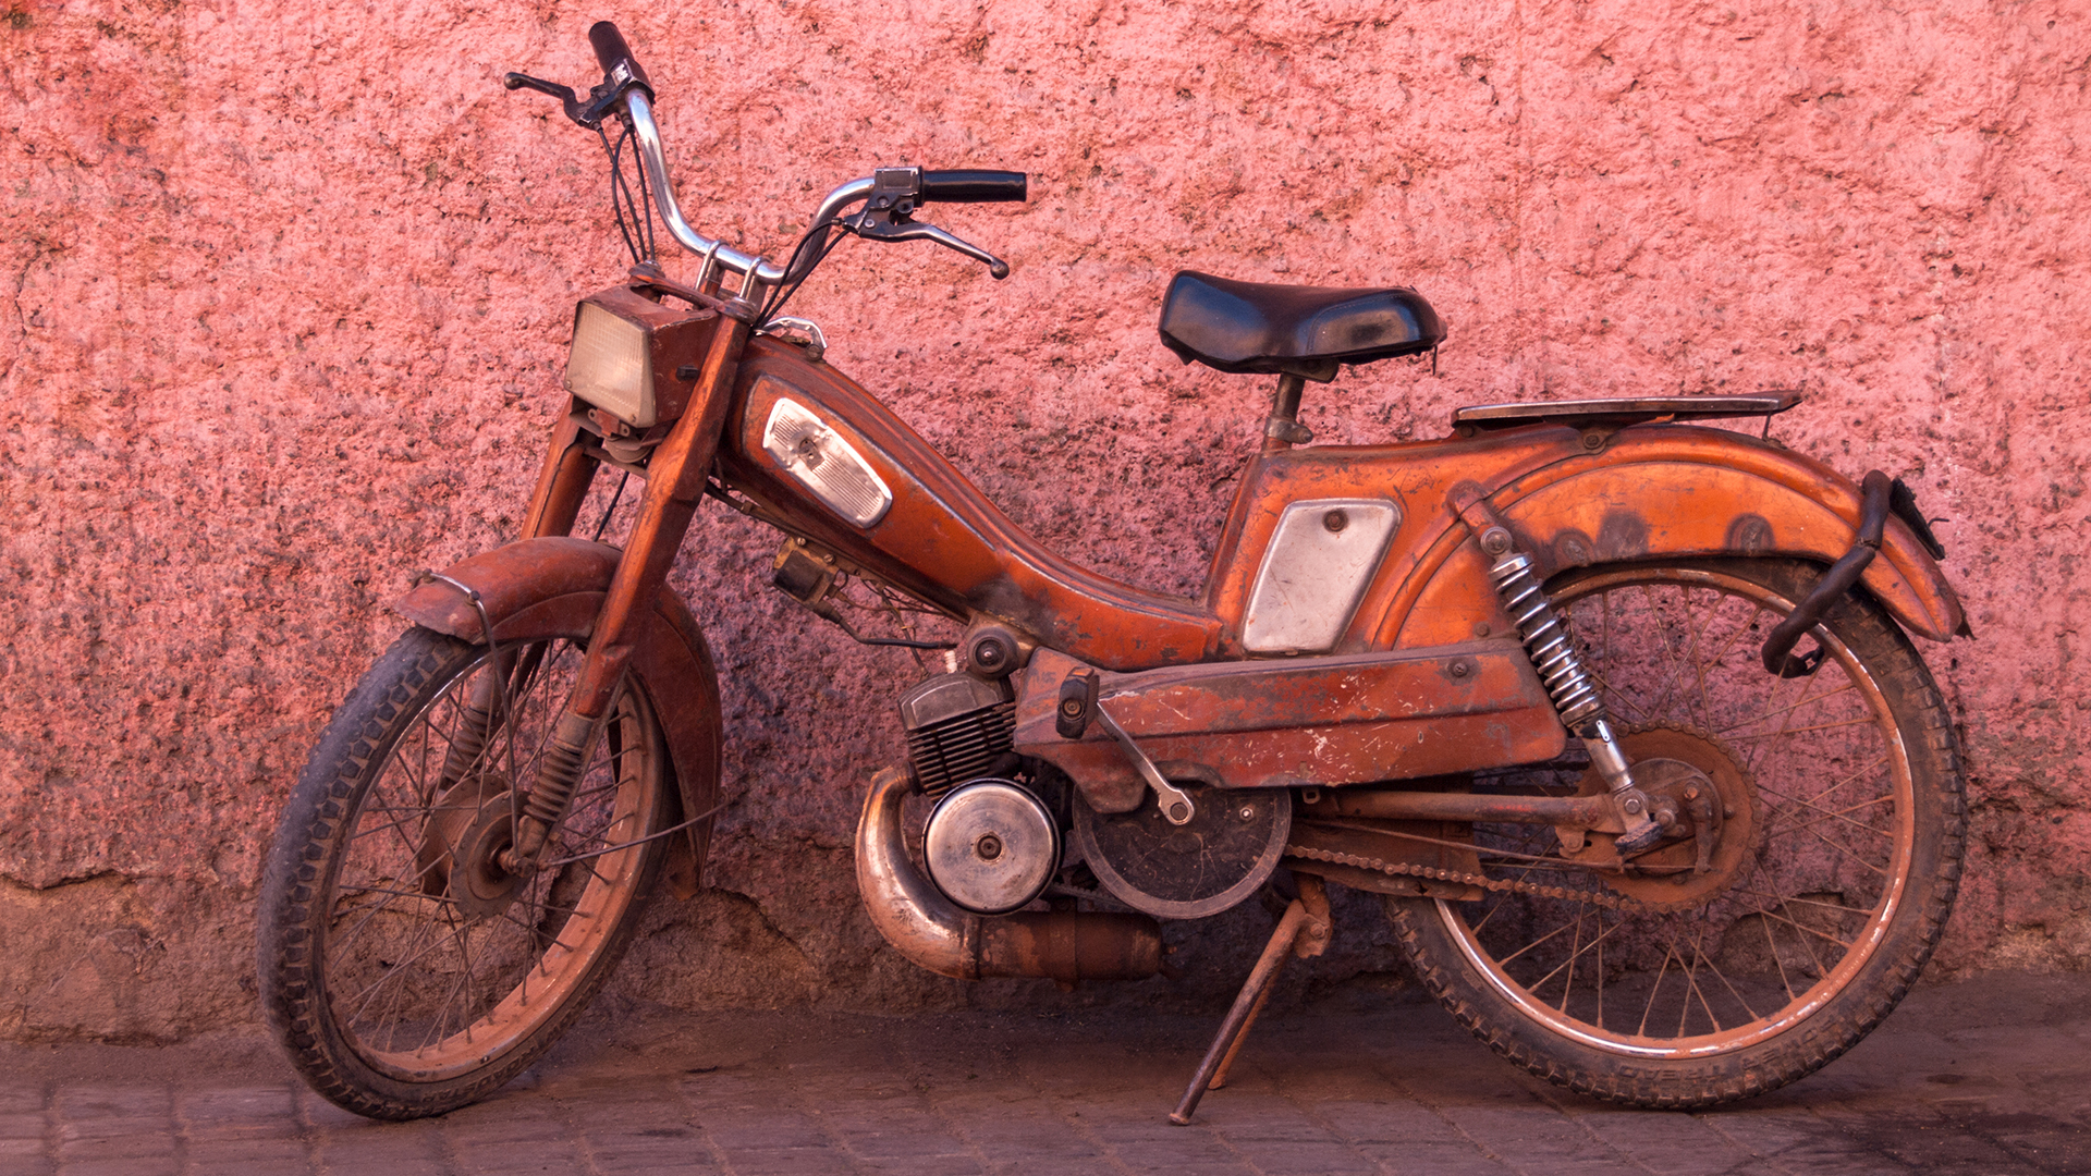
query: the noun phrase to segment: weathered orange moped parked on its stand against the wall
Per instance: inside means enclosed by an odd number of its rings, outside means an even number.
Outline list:
[[[1917,977],[1963,783],[1911,634],[1972,634],[1901,481],[1771,439],[1796,393],[1487,404],[1439,439],[1315,446],[1307,385],[1432,358],[1430,303],[1184,272],[1163,345],[1276,389],[1204,592],[1138,590],[1039,546],[782,314],[849,236],[1006,276],[922,213],[1022,201],[1027,178],[878,167],[776,264],[684,220],[646,73],[613,25],[590,42],[585,98],[506,86],[598,132],[634,266],[575,310],[521,538],[397,601],[412,628],[326,726],[266,862],[261,1002],[326,1099],[416,1117],[496,1090],[657,891],[696,894],[723,730],[667,575],[707,500],[780,532],[772,580],[815,615],[947,657],[899,697],[905,747],[857,827],[893,950],[964,979],[1142,979],[1167,971],[1161,921],[1276,896],[1177,1122],[1286,956],[1328,946],[1330,885],[1380,896],[1491,1048],[1637,1107],[1794,1082]],[[642,485],[621,548],[577,534],[606,473]]]

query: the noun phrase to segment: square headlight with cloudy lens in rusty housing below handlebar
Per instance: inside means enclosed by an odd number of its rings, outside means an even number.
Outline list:
[[[567,391],[646,429],[682,416],[719,316],[661,306],[629,287],[592,293],[573,310]]]

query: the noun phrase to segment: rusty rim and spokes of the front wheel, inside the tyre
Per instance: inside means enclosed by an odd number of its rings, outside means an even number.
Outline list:
[[[475,739],[489,726],[475,724],[475,701],[502,714],[481,651],[349,797],[316,929],[318,988],[330,1027],[378,1073],[441,1082],[498,1063],[567,1009],[638,898],[648,847],[631,841],[659,827],[663,755],[631,688],[539,854],[562,864],[523,879],[496,864],[521,810],[508,781],[535,783],[583,655],[565,640],[504,649],[514,722]]]

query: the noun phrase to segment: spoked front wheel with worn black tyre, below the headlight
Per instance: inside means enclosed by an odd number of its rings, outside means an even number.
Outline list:
[[[408,630],[297,781],[261,881],[261,1007],[322,1096],[378,1120],[514,1078],[623,956],[675,814],[644,684],[627,676],[529,875],[502,868],[585,651],[500,657]],[[506,688],[504,688],[506,686]]]

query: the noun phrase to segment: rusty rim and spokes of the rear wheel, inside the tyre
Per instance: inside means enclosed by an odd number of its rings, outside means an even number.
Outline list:
[[[1658,912],[1623,902],[1648,894],[1646,881],[1606,887],[1560,862],[1552,829],[1476,827],[1487,875],[1570,898],[1439,900],[1445,929],[1526,1017],[1608,1053],[1702,1059],[1792,1030],[1876,958],[1905,900],[1915,793],[1886,693],[1821,626],[1813,676],[1767,674],[1759,647],[1792,601],[1723,571],[1604,571],[1556,605],[1616,720],[1733,749],[1763,806],[1759,843],[1719,894]],[[1577,791],[1575,776],[1480,787],[1560,795]]]

